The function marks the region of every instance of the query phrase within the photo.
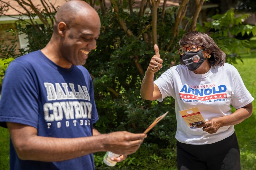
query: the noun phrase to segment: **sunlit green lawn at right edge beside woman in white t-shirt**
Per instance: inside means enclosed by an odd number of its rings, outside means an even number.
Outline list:
[[[250,118],[235,125],[235,131],[240,147],[242,170],[256,170],[256,74],[254,73],[256,69],[256,50],[252,50],[251,54],[243,55],[242,60],[244,64],[241,61],[237,61],[234,66],[239,71],[246,88],[255,98],[252,102],[254,111]]]

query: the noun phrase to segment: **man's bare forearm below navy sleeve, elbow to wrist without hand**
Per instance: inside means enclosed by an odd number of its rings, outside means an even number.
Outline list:
[[[34,135],[33,137],[24,137],[23,140],[16,142],[15,149],[22,160],[55,162],[106,151],[104,149],[105,140],[107,140],[107,134],[80,138]]]

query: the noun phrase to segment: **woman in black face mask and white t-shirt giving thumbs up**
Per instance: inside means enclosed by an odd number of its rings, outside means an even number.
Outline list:
[[[155,55],[142,80],[142,99],[175,99],[178,169],[241,169],[233,125],[250,117],[254,98],[237,69],[225,63],[225,53],[207,34],[186,33],[180,46],[181,64],[154,81],[163,62],[155,45]],[[233,114],[230,105],[236,108]],[[198,107],[206,121],[196,129],[190,129],[179,113],[193,107]]]

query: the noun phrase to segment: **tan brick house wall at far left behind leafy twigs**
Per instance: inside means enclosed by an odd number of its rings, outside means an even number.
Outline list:
[[[15,29],[16,25],[14,23],[12,24],[0,24],[0,44],[7,44],[7,45],[12,45],[12,41],[17,40],[15,42],[15,44],[17,44],[16,46],[16,54],[19,54],[19,37],[18,35],[16,37],[14,37],[12,35],[12,33],[6,32],[6,29],[10,29],[13,28]],[[3,40],[3,43],[2,43]],[[3,47],[2,47],[3,48]],[[0,56],[1,58],[3,56]]]

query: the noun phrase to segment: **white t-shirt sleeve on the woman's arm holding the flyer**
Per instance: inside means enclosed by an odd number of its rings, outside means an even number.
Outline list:
[[[236,109],[246,106],[254,100],[250,92],[246,89],[244,82],[238,71],[233,80],[233,89],[234,90],[231,96],[231,104]]]

